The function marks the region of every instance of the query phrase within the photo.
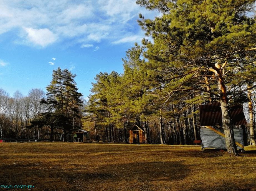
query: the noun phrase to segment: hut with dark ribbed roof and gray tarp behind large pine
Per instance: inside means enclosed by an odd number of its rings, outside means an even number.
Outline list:
[[[228,111],[231,123],[237,127],[234,129],[234,137],[237,148],[244,148],[245,124],[247,124],[244,116],[243,107],[236,104],[230,107]],[[222,129],[222,112],[219,102],[212,104],[199,105],[200,126],[205,127],[200,129],[200,136],[203,148],[226,148],[225,134]]]

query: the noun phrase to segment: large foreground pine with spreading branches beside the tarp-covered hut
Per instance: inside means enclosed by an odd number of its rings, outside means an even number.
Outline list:
[[[164,14],[154,20],[140,15],[139,24],[151,36],[147,40],[146,59],[149,69],[158,73],[159,81],[172,83],[168,97],[178,91],[207,92],[219,98],[222,127],[229,153],[237,155],[234,132],[230,123],[226,82],[237,67],[252,64],[255,55],[255,19],[246,16],[255,1],[177,0],[137,1],[148,9]],[[254,62],[254,61],[253,61]],[[202,88],[208,72],[214,74],[219,94]],[[191,85],[192,83],[192,85]]]

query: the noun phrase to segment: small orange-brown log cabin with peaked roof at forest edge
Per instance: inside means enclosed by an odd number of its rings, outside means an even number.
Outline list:
[[[130,143],[134,143],[134,144],[145,143],[145,132],[138,125],[134,125],[130,129],[129,134],[130,134],[130,138],[129,138]]]

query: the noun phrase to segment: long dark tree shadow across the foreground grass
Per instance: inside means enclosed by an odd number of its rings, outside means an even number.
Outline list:
[[[189,169],[180,161],[110,164],[95,169],[81,169],[79,165],[75,169],[0,165],[0,185],[34,185],[39,190],[80,190],[81,186],[86,188],[90,184],[94,184],[96,189],[98,184],[124,181],[134,182],[138,187],[142,184],[145,188],[152,181],[184,179],[188,173]]]

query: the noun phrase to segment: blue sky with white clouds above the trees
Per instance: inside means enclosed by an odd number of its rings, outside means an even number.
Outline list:
[[[45,91],[60,67],[86,99],[96,74],[123,73],[125,51],[145,37],[139,13],[160,15],[136,0],[0,0],[0,88]]]

